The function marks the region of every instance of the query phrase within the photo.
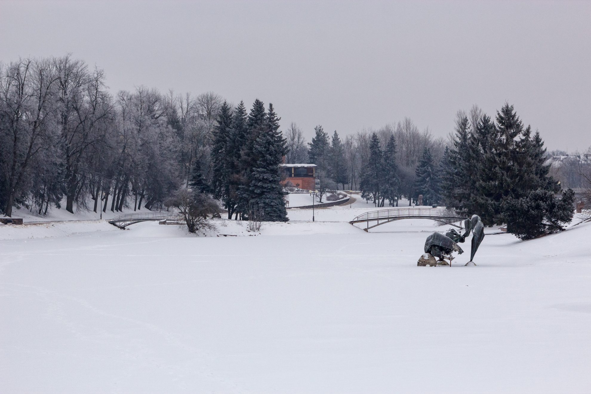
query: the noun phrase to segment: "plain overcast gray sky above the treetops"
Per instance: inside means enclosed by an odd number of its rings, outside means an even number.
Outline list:
[[[410,117],[446,136],[505,101],[550,149],[591,145],[591,2],[2,1],[0,60],[68,52],[144,84],[272,102],[282,128]]]

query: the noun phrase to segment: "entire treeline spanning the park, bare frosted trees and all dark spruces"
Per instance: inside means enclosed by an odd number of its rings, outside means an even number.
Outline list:
[[[478,106],[460,112],[447,142],[410,119],[344,139],[317,126],[309,143],[295,123],[284,138],[279,121],[258,99],[248,112],[211,92],[141,86],[113,96],[103,70],[70,56],[1,64],[0,211],[46,214],[62,201],[71,213],[159,209],[190,188],[234,219],[287,220],[285,155],[318,166],[321,193],[361,190],[376,206],[422,195],[423,204],[508,223],[524,238],[558,230],[572,215],[573,192],[556,197],[561,187],[548,175],[540,134],[508,104],[495,121]]]

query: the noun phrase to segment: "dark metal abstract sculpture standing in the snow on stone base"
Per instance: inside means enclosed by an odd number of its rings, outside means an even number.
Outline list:
[[[464,252],[457,243],[466,241],[466,236],[472,232],[472,246],[470,248],[470,261],[466,265],[476,265],[472,260],[478,246],[484,238],[484,226],[478,215],[472,215],[470,219],[464,221],[466,232],[460,235],[456,230],[450,229],[445,235],[441,233],[433,233],[427,237],[425,241],[425,254],[418,260],[417,265],[435,266],[448,265],[445,259],[449,260],[449,265],[452,265],[453,252],[458,252],[460,255]],[[439,258],[438,261],[435,258]]]

